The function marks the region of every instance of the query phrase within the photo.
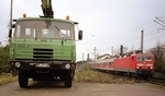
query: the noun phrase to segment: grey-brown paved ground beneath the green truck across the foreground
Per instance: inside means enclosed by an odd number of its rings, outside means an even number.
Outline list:
[[[20,88],[18,82],[0,86],[0,96],[165,96],[165,88],[136,84],[74,83],[72,88],[62,82],[30,82]]]

